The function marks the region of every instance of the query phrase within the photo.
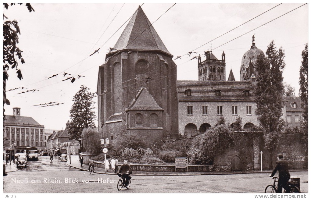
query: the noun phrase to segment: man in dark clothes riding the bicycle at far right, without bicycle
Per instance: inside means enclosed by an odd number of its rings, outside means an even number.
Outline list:
[[[276,166],[272,171],[271,177],[279,171],[279,182],[277,183],[277,192],[282,193],[282,188],[286,190],[287,193],[287,182],[290,179],[290,173],[288,172],[288,162],[283,160],[283,154],[279,153],[277,155]]]

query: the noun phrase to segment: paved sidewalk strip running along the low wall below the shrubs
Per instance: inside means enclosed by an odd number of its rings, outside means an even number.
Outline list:
[[[73,155],[72,155],[73,156]],[[69,158],[68,158],[69,159]],[[80,169],[83,171],[88,171],[89,166],[87,164],[83,164],[81,166],[78,156],[74,155],[71,158],[71,164],[69,160],[67,161],[67,165],[70,167],[74,167],[76,169]],[[108,169],[108,172],[105,169],[95,167],[94,173],[97,174],[111,174],[116,175],[112,169]],[[217,171],[210,171],[210,172],[160,172],[160,171],[133,171],[132,175],[142,175],[142,176],[180,176],[180,175],[229,175],[229,174],[249,174],[249,173],[271,173],[271,171],[245,171],[245,172],[217,172]]]

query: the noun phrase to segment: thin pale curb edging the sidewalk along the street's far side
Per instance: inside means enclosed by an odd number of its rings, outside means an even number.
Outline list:
[[[82,169],[76,166],[67,164],[69,167],[80,169],[81,171],[89,171],[88,169]],[[294,170],[294,171],[308,171],[308,170]],[[272,171],[262,171],[262,172],[240,172],[240,173],[202,173],[202,174],[131,174],[132,176],[193,176],[193,175],[234,175],[234,174],[264,174],[271,173]],[[291,171],[290,171],[291,172]],[[116,175],[114,173],[105,173],[105,172],[96,172],[95,174],[107,174],[107,175]]]

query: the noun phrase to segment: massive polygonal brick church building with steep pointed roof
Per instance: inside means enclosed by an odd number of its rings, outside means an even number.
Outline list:
[[[177,67],[141,7],[99,67],[98,121],[109,138],[178,136]]]

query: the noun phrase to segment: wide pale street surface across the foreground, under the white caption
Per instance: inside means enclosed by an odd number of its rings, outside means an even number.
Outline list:
[[[302,192],[308,192],[307,171],[291,172],[300,178]],[[3,193],[263,193],[273,180],[267,173],[200,176],[132,176],[129,189],[117,190],[115,174],[90,174],[69,168],[56,157],[30,161],[27,169],[9,172],[3,179]]]

